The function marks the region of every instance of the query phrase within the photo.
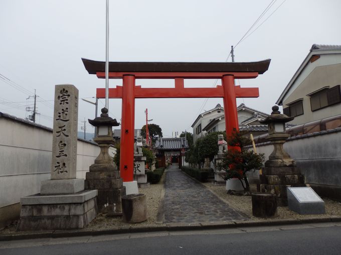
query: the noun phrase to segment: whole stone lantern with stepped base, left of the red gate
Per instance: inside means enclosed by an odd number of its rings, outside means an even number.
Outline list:
[[[107,108],[102,108],[101,111],[100,117],[89,119],[89,123],[97,127],[94,141],[101,150],[86,173],[85,188],[98,190],[97,205],[100,212],[122,215],[121,196],[125,194],[125,189],[120,172],[109,155],[109,147],[115,142],[112,126],[118,126],[119,123],[109,117]]]

